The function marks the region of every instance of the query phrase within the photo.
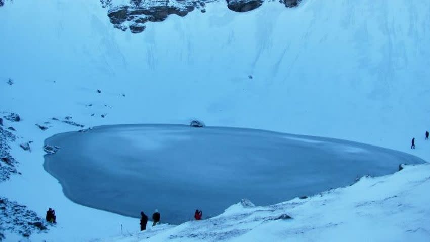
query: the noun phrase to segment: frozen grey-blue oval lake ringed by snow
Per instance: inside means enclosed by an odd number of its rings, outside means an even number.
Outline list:
[[[331,138],[185,125],[112,125],[54,135],[45,170],[89,207],[161,222],[216,216],[242,198],[270,205],[424,162],[406,153]]]

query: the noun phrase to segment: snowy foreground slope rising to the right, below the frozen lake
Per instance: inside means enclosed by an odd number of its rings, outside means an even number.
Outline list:
[[[429,174],[429,165],[406,167],[307,199],[238,203],[208,220],[97,241],[428,241]]]

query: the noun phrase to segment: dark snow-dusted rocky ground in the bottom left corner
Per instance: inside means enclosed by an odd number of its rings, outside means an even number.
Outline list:
[[[0,197],[0,228],[2,232],[9,231],[29,237],[32,233],[46,232],[48,224],[26,206]]]

